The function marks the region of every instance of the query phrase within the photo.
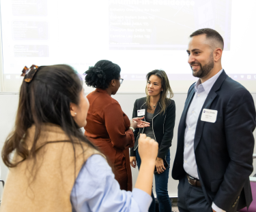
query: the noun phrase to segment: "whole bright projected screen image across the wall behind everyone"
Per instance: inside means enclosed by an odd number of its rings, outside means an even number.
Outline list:
[[[165,70],[170,80],[191,82],[197,79],[186,49],[189,35],[201,28],[223,36],[223,68],[230,77],[256,80],[254,0],[0,2],[6,91],[18,90],[25,65],[64,63],[82,75],[102,59],[121,67],[124,84],[145,80],[154,69]]]

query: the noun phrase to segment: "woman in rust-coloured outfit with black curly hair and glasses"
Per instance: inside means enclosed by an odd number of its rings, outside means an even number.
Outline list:
[[[85,71],[85,83],[96,88],[87,95],[90,107],[85,136],[106,156],[120,188],[131,191],[129,147],[134,146],[134,128],[147,126],[147,123],[141,121],[142,118],[130,121],[119,103],[111,97],[122,84],[120,71],[120,67],[109,60],[100,60]]]

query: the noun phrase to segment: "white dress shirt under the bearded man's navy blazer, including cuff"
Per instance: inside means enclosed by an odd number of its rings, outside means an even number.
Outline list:
[[[184,136],[184,162],[183,167],[188,175],[199,179],[197,173],[197,162],[195,160],[194,152],[194,139],[195,139],[195,130],[197,128],[197,121],[199,119],[199,114],[203,107],[203,103],[207,98],[212,86],[218,79],[218,77],[223,72],[223,69],[216,73],[212,78],[201,83],[201,79],[198,79],[195,84],[195,96],[188,108],[188,113],[186,114],[186,129]],[[212,202],[212,208],[217,212],[223,212],[222,209],[219,209],[214,202]]]

